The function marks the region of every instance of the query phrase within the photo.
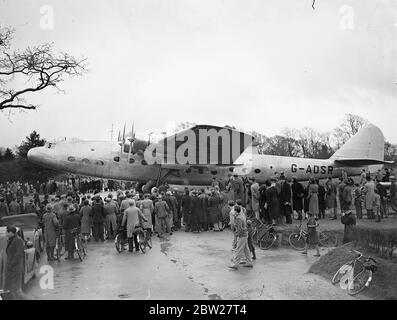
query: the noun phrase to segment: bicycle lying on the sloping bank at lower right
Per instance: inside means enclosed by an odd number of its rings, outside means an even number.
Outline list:
[[[374,258],[365,257],[356,250],[351,252],[358,254],[358,257],[340,267],[332,277],[331,283],[333,285],[340,283],[342,289],[347,288],[347,292],[354,296],[369,287],[372,274],[378,267]]]

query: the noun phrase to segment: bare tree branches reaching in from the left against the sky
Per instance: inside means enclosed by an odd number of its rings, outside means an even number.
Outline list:
[[[37,105],[26,102],[27,94],[47,87],[62,91],[59,86],[65,77],[80,76],[86,71],[86,58],[54,54],[51,43],[11,52],[13,34],[11,28],[0,28],[0,110],[36,109]],[[21,83],[22,88],[14,88]]]

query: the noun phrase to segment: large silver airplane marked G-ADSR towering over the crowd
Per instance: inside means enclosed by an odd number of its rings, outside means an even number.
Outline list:
[[[125,130],[124,130],[125,132]],[[62,141],[47,143],[28,152],[36,164],[74,174],[105,179],[136,181],[144,190],[167,182],[174,185],[209,185],[230,173],[255,177],[264,183],[277,173],[337,178],[345,170],[359,176],[362,169],[374,172],[384,164],[382,131],[367,124],[329,159],[262,155],[251,135],[230,127],[198,125],[150,143],[135,138],[119,141]]]

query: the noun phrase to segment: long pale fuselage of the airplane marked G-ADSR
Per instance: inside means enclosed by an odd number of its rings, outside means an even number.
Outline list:
[[[255,177],[259,183],[264,183],[280,172],[289,177],[296,176],[299,181],[307,181],[312,176],[317,179],[340,177],[342,169],[348,176],[358,176],[363,168],[343,167],[330,159],[260,155],[253,150],[255,149],[248,148],[241,154],[236,161],[241,164],[238,166],[181,165],[174,166],[173,169],[150,165],[142,154],[123,152],[117,142],[58,142],[53,146],[35,148],[29,152],[28,157],[40,165],[78,175],[143,183],[164,178],[170,184],[182,185],[209,185],[213,177],[227,179],[230,173]]]

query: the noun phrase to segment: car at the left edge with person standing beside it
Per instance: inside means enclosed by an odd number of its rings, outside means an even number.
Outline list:
[[[44,250],[43,233],[39,227],[39,219],[35,213],[19,214],[0,219],[0,289],[4,285],[4,272],[7,249],[7,226],[15,226],[17,234],[25,242],[23,284],[27,284],[36,276],[37,269]]]

